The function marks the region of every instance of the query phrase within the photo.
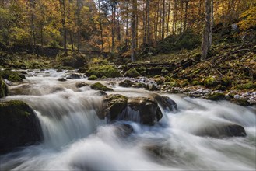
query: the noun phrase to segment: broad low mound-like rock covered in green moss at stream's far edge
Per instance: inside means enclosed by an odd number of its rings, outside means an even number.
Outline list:
[[[112,65],[99,65],[99,66],[91,66],[86,70],[86,76],[96,75],[98,78],[103,76],[107,78],[115,78],[120,77],[121,74],[114,68]]]

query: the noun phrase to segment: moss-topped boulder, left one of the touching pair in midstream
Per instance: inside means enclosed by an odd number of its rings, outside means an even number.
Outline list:
[[[105,96],[103,99],[104,112],[100,113],[98,117],[104,119],[107,116],[108,121],[113,121],[117,118],[121,111],[127,106],[128,99],[126,96],[119,94],[112,94]]]

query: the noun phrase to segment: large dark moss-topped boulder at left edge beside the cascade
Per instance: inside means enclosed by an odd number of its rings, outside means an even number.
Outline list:
[[[22,101],[0,102],[0,153],[43,140],[39,120]]]

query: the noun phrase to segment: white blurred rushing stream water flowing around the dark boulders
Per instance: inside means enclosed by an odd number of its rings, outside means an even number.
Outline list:
[[[153,127],[125,122],[134,131],[123,137],[118,134],[118,124],[106,124],[96,117],[102,96],[88,87],[75,88],[75,82],[86,79],[58,82],[61,76],[65,72],[33,71],[26,82],[10,87],[16,95],[6,99],[21,99],[33,107],[44,142],[0,156],[0,170],[256,169],[254,107],[166,94],[177,103],[177,112],[164,112]],[[117,86],[111,93],[149,95],[142,89]],[[242,125],[247,136],[198,136],[225,123]]]

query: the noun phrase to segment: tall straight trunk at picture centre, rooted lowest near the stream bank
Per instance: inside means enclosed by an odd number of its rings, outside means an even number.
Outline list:
[[[137,0],[132,0],[132,62],[136,59],[136,35],[137,35]]]

